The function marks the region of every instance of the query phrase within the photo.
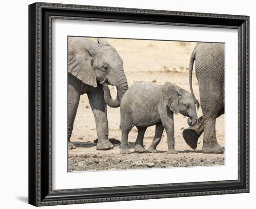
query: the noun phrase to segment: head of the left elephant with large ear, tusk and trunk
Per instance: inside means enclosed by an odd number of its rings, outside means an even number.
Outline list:
[[[96,87],[100,83],[104,100],[110,107],[119,107],[128,89],[123,61],[105,39],[98,39],[96,43],[87,38],[68,37],[68,72],[87,85]],[[112,99],[108,85],[116,86],[115,99]]]

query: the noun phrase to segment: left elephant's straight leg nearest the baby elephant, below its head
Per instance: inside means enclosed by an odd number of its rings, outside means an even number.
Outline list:
[[[88,99],[92,108],[96,131],[98,137],[97,150],[110,150],[114,145],[108,140],[108,118],[107,118],[107,105],[104,101],[104,93],[101,85],[88,93]]]

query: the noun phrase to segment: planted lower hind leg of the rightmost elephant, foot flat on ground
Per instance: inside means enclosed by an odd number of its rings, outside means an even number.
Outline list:
[[[216,118],[204,120],[204,134],[202,153],[221,154],[224,152],[223,148],[216,140]]]

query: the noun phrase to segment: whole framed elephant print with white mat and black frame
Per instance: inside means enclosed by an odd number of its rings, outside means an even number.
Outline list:
[[[29,203],[249,192],[249,16],[29,5]]]

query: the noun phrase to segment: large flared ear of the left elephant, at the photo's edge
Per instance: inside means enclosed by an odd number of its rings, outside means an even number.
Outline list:
[[[97,86],[96,75],[92,67],[91,55],[87,50],[88,42],[82,38],[69,37],[68,40],[68,72],[83,83]]]

